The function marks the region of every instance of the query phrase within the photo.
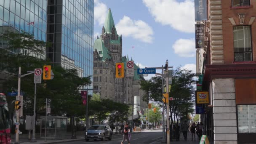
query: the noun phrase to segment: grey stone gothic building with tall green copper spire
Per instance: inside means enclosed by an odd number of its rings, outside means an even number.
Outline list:
[[[115,63],[126,62],[128,56],[122,56],[122,35],[118,35],[109,9],[100,37],[93,47],[93,93],[101,99],[112,99],[120,103],[133,104],[134,96],[140,96],[141,109],[147,107],[142,101],[144,91],[140,90],[139,81],[143,76],[137,74],[139,68],[134,64],[134,77],[115,78]],[[126,69],[126,67],[125,67]]]

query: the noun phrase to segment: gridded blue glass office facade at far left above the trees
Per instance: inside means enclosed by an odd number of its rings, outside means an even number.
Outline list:
[[[0,48],[8,46],[3,40],[7,31],[27,32],[46,41],[46,11],[47,0],[0,0]]]

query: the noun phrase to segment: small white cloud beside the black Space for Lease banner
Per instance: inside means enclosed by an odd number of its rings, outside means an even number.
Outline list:
[[[195,56],[195,39],[179,39],[173,44],[173,50],[180,57]]]

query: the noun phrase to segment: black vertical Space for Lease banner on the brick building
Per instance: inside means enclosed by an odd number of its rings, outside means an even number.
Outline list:
[[[195,24],[195,48],[203,48],[204,39],[204,25]]]

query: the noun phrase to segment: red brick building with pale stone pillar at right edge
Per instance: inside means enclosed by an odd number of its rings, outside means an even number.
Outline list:
[[[214,144],[255,144],[256,1],[207,0],[205,47],[197,72],[209,104],[201,120]]]

